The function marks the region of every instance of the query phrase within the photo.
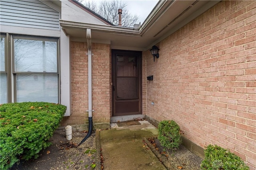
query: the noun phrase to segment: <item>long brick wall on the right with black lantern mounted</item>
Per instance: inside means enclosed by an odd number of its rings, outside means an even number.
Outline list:
[[[154,75],[144,113],[176,121],[192,142],[228,148],[255,169],[256,2],[222,1],[157,45],[155,62],[143,52],[143,79]]]

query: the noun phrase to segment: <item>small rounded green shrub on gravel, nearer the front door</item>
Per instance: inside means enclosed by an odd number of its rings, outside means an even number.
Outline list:
[[[175,121],[161,121],[158,125],[158,140],[168,149],[178,149],[182,143],[179,125]]]

